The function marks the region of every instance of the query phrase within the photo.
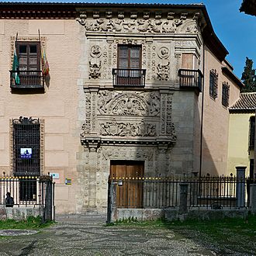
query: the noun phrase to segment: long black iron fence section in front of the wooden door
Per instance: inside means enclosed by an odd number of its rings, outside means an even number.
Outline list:
[[[210,177],[111,177],[116,208],[169,208],[180,204],[180,184],[188,185],[188,207],[232,209],[247,207],[248,179],[234,175]]]

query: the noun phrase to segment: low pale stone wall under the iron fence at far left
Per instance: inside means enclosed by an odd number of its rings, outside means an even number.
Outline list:
[[[0,220],[26,220],[29,216],[39,216],[38,208],[0,208]]]

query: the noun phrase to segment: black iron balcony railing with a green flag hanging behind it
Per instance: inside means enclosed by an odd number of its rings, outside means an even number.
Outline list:
[[[43,88],[42,71],[10,71],[11,88]]]

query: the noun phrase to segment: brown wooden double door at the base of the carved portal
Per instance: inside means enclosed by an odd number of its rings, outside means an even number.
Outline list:
[[[111,161],[110,175],[116,177],[116,206],[143,208],[144,161]]]

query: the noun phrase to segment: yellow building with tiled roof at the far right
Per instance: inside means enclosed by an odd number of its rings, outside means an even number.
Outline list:
[[[228,172],[237,165],[247,166],[246,175],[254,176],[254,127],[256,93],[244,92],[230,107]]]

